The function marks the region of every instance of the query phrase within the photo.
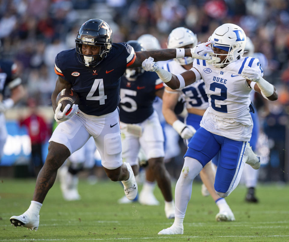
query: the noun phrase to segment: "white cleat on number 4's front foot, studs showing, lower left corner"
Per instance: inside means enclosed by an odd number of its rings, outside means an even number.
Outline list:
[[[39,215],[32,214],[28,211],[20,216],[12,216],[10,218],[11,225],[15,228],[17,226],[26,227],[30,230],[37,230],[39,226]]]

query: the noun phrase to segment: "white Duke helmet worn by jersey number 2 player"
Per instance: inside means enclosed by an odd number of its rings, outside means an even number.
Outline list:
[[[227,57],[221,63],[217,63],[219,58],[217,54],[209,53],[212,59],[215,59],[211,64],[216,67],[225,66],[228,63],[234,62],[244,54],[244,49],[246,45],[246,35],[244,30],[238,25],[232,23],[225,23],[213,32],[210,36],[209,41],[215,41],[215,44],[211,44],[211,47],[216,47],[225,51],[228,54],[218,54],[226,55]]]

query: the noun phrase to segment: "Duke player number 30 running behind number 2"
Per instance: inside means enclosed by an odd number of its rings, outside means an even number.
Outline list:
[[[173,29],[168,37],[168,48],[193,48],[197,45],[197,35],[191,30],[179,27]],[[174,59],[167,61],[163,69],[175,75],[181,74],[193,67],[194,59],[184,57],[182,59]],[[186,109],[188,115],[185,118],[185,123],[180,121],[174,112],[179,96],[184,96],[186,101]],[[202,79],[196,80],[194,83],[177,90],[172,90],[165,87],[163,94],[163,115],[166,121],[179,133],[185,140],[186,144],[190,141],[196,130],[200,128],[200,121],[209,107],[208,96],[205,92],[205,83]],[[219,213],[216,215],[217,221],[235,221],[234,214],[228,206],[225,198],[221,198],[216,194],[214,189],[214,178],[216,171],[213,170],[212,162],[204,166],[200,171],[200,177],[214,199],[219,208]]]

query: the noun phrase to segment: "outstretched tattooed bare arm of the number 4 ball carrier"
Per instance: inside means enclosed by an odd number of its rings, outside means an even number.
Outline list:
[[[141,66],[141,63],[148,57],[153,57],[154,61],[171,60],[176,58],[176,49],[162,49],[154,51],[135,52],[135,62],[129,68]],[[192,57],[191,49],[185,49],[185,57]]]

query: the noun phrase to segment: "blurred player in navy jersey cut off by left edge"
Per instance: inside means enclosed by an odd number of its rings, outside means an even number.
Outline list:
[[[1,42],[0,42],[1,47]],[[26,92],[18,76],[17,64],[10,60],[0,60],[0,162],[8,136],[5,112],[21,100]]]

